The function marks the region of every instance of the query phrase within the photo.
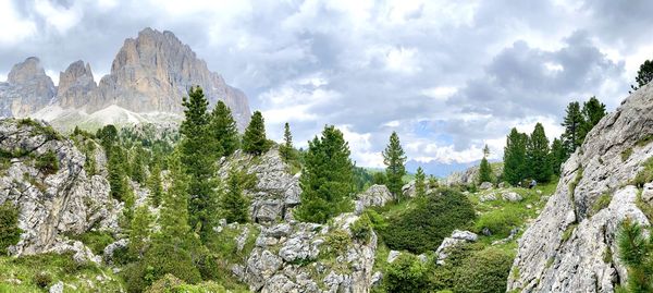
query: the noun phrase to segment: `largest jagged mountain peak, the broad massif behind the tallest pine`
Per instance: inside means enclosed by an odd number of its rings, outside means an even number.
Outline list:
[[[111,74],[100,81],[100,98],[87,107],[94,111],[118,105],[134,112],[182,113],[182,97],[193,85],[201,86],[211,105],[223,100],[242,130],[247,125],[249,105],[245,94],[210,72],[206,62],[173,33],[149,27],[137,38],[125,40]]]

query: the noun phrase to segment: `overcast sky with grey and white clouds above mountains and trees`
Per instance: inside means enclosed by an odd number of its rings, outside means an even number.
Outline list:
[[[392,131],[411,167],[501,158],[510,127],[560,133],[565,106],[613,110],[653,58],[653,1],[0,0],[0,81],[29,56],[96,78],[144,27],[173,32],[242,88],[280,139],[335,124],[358,166],[381,167]],[[448,170],[448,169],[447,169]]]

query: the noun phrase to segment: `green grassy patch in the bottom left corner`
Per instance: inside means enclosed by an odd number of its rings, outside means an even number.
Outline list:
[[[65,284],[65,292],[124,291],[122,281],[110,269],[78,265],[67,254],[0,256],[0,292],[46,292],[59,281]]]

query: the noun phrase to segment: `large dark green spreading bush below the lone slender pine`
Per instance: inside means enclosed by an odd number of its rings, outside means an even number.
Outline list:
[[[389,248],[415,254],[435,251],[444,237],[476,218],[471,203],[454,190],[443,188],[417,200],[417,207],[387,219],[385,228],[375,227]]]

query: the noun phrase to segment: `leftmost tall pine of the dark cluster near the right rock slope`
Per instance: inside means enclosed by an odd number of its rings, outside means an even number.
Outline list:
[[[517,185],[525,178],[526,172],[526,143],[528,136],[513,129],[506,138],[504,148],[504,180]]]

